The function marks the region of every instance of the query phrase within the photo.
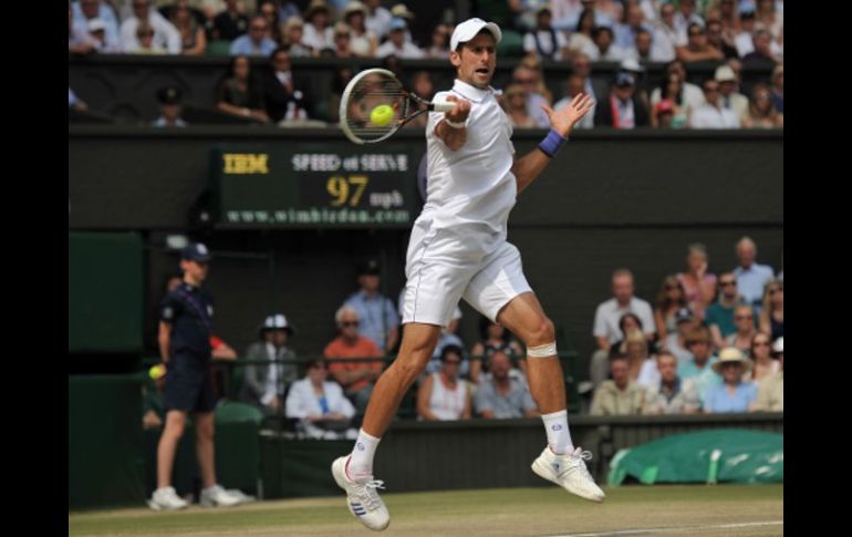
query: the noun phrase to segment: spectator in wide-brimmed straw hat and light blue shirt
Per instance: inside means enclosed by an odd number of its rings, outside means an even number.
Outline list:
[[[739,349],[728,347],[719,352],[719,360],[711,368],[721,375],[723,382],[707,390],[704,396],[704,412],[748,412],[757,399],[757,385],[742,381],[742,375],[751,370],[751,362]]]

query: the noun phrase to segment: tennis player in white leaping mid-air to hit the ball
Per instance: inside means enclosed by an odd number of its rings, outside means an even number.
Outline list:
[[[453,32],[449,61],[457,79],[435,100],[455,106],[429,113],[426,126],[427,200],[408,246],[402,347],[376,382],[352,454],[332,464],[350,512],[370,529],[391,523],[377,493],[383,482],[373,478],[376,447],[460,298],[527,345],[530,391],[548,437],[533,472],[583,498],[604,498],[585,467],[591,454],[571,442],[553,323],[527,283],[518,248],[506,240],[515,198],[565,144],[593,101],[581,93],[559,112],[542,106],[550,132],[536,149],[516,158],[511,123],[489,85],[500,38],[500,28],[481,19],[469,19]]]

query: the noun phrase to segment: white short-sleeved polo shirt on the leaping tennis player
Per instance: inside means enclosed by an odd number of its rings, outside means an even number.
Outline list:
[[[435,101],[455,95],[470,101],[467,141],[450,151],[435,135],[444,113],[430,112],[426,124],[426,205],[419,219],[435,228],[454,228],[467,236],[482,237],[479,246],[490,250],[506,240],[507,220],[518,194],[511,173],[515,146],[509,117],[497,103],[495,90],[479,90],[456,80],[453,90],[439,92]]]

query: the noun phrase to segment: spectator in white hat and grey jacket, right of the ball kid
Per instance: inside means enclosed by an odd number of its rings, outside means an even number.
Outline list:
[[[246,349],[246,359],[267,363],[246,365],[240,399],[259,406],[267,414],[276,414],[283,409],[287,388],[298,376],[295,363],[279,362],[295,359],[295,353],[288,347],[292,334],[293,328],[287,317],[276,313],[267,317],[260,327],[260,340]]]

